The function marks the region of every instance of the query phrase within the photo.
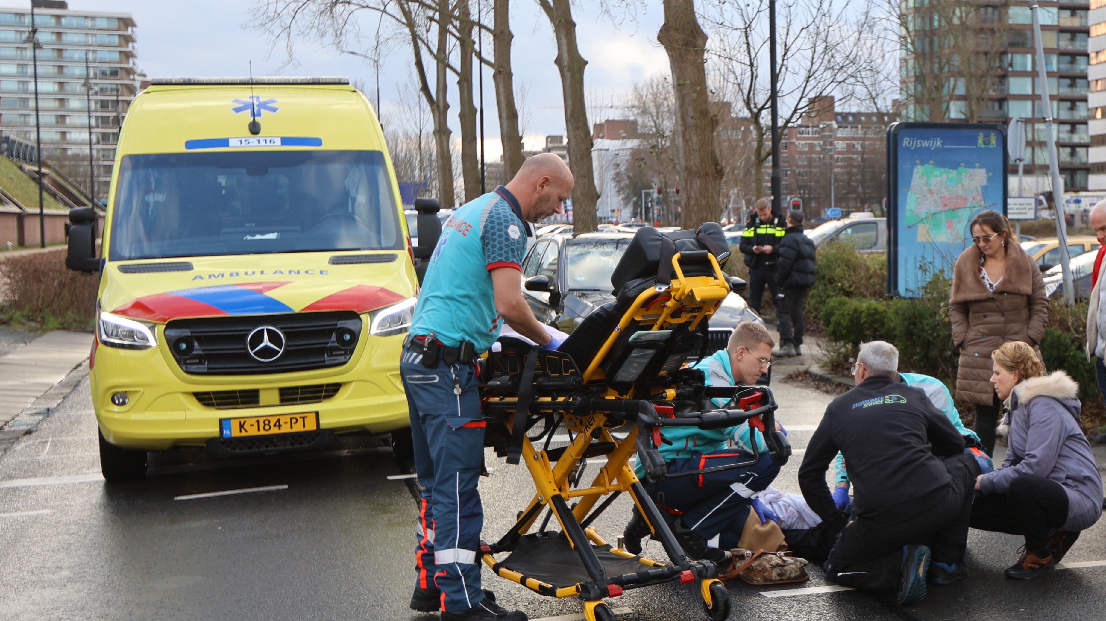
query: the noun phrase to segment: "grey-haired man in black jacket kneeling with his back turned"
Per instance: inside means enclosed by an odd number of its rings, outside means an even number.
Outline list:
[[[834,531],[842,529],[825,564],[827,577],[856,589],[897,590],[898,603],[915,603],[926,596],[927,573],[938,585],[967,576],[979,466],[926,394],[895,380],[895,346],[862,345],[853,373],[856,388],[830,403],[811,438],[799,484],[811,509]],[[855,488],[852,520],[826,486],[837,451]]]

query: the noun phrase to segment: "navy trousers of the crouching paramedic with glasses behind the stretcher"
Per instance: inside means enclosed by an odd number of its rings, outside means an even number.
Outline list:
[[[692,453],[690,457],[668,462],[668,472],[729,465],[750,459],[752,455],[734,449]],[[771,455],[762,453],[760,461],[748,467],[665,478],[657,485],[645,483],[645,488],[654,502],[668,509],[669,514],[679,512],[675,515],[680,517],[684,526],[707,539],[711,547],[730,549],[735,548],[741,539],[751,498],[763,492],[778,474],[780,466],[775,465]]]

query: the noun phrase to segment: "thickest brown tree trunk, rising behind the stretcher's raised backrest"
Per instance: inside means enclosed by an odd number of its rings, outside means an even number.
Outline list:
[[[695,229],[720,217],[722,164],[718,159],[714,115],[710,109],[703,53],[707,34],[699,28],[693,0],[664,0],[665,23],[657,42],[668,52],[676,92],[676,145],[682,183],[682,222]]]

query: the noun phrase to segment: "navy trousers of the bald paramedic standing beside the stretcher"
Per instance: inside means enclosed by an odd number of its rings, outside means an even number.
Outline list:
[[[437,585],[441,610],[466,610],[484,597],[480,588],[483,507],[477,491],[484,423],[476,368],[439,360],[428,369],[419,354],[405,347],[399,371],[422,490],[415,548],[418,586]]]

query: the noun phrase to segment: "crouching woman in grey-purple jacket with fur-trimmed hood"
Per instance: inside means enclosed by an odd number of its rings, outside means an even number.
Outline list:
[[[1103,483],[1079,429],[1079,385],[1064,371],[1045,375],[1029,345],[1006,341],[991,354],[991,383],[1009,406],[1002,467],[981,474],[971,527],[1023,535],[1008,578],[1035,578],[1056,567],[1079,531],[1102,515]],[[1000,430],[1002,429],[1000,427]]]

